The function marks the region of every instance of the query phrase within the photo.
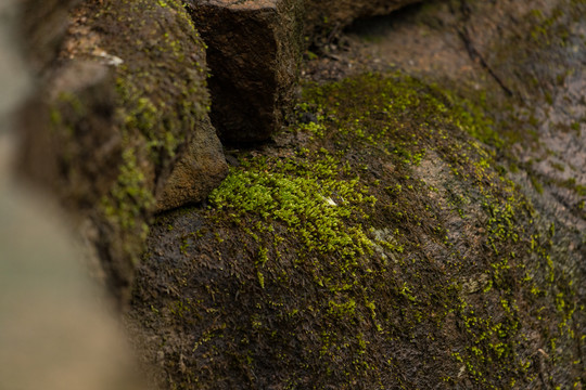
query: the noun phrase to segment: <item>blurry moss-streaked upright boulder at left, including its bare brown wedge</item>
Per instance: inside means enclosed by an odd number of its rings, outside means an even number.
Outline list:
[[[178,1],[88,1],[42,77],[23,164],[88,221],[125,296],[153,211],[202,200],[227,172],[206,122],[204,43]]]

